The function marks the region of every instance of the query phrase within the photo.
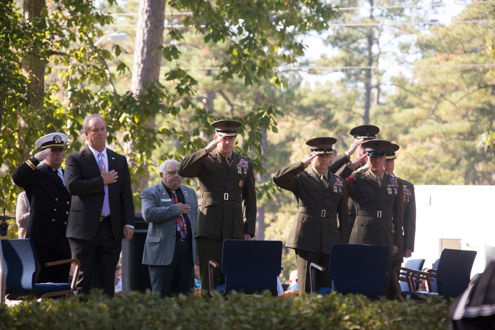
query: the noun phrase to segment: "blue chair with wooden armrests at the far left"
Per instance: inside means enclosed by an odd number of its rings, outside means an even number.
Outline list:
[[[67,259],[46,263],[45,266],[55,266],[75,263],[72,283],[36,283],[38,275],[38,259],[34,243],[30,238],[1,239],[1,251],[5,278],[5,297],[9,300],[20,296],[30,296],[35,299],[73,295],[79,275],[80,262],[78,259]],[[69,274],[67,274],[67,280]]]

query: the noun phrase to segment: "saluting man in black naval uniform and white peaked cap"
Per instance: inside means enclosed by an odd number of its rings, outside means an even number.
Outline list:
[[[70,209],[70,194],[63,180],[63,151],[67,136],[51,133],[36,141],[41,148],[12,175],[14,183],[24,188],[29,200],[26,238],[33,240],[41,266],[37,283],[66,283],[70,264],[45,267],[45,263],[70,259],[65,230]],[[41,163],[44,161],[44,163]]]

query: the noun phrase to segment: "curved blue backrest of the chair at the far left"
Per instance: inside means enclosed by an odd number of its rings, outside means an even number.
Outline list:
[[[33,241],[25,239],[1,239],[1,249],[6,274],[5,293],[35,293],[37,257]]]

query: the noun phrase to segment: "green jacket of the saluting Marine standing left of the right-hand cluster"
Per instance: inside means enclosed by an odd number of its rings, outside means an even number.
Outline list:
[[[302,162],[280,169],[273,177],[280,188],[292,191],[297,200],[297,215],[286,246],[330,254],[332,243],[347,243],[349,212],[344,180],[329,172],[326,186]],[[337,216],[340,226],[338,226]]]

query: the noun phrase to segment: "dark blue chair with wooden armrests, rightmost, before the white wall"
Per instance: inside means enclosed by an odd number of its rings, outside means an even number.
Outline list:
[[[434,294],[441,295],[446,299],[455,298],[469,284],[476,254],[476,251],[444,249],[438,260],[436,270],[422,272],[396,267],[393,271],[393,276],[396,281],[398,298],[404,300],[406,297],[410,297],[415,300],[425,300]],[[404,273],[406,274],[405,276],[403,275]],[[429,292],[417,291],[415,286],[409,286],[409,290],[406,291],[400,290],[399,281],[414,283],[420,280],[427,281]]]

